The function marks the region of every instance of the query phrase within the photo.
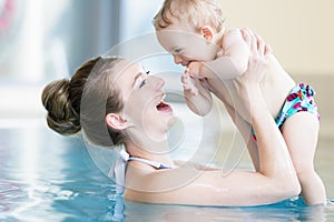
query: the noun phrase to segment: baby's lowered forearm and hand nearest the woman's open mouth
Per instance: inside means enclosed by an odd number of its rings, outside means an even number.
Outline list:
[[[184,95],[188,108],[198,115],[206,115],[213,105],[212,94],[199,80],[189,75],[188,70],[181,77]]]

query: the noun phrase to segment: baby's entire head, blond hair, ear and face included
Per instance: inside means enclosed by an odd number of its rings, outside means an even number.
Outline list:
[[[184,67],[215,59],[224,33],[215,0],[165,0],[154,26],[159,43]]]

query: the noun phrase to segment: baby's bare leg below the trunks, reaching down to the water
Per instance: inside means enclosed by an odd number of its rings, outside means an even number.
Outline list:
[[[298,175],[302,194],[307,204],[324,204],[324,184],[314,171],[313,159],[318,138],[320,123],[314,113],[297,112],[288,118],[282,133]]]

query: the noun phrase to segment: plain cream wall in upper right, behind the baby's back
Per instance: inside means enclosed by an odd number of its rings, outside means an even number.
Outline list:
[[[218,0],[228,28],[248,27],[292,74],[334,75],[333,0]]]

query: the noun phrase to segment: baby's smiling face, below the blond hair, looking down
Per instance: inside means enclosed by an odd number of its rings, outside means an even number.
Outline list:
[[[210,61],[219,47],[206,39],[189,26],[170,24],[156,32],[159,43],[174,57],[176,64],[187,67],[193,61]]]

